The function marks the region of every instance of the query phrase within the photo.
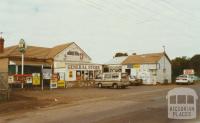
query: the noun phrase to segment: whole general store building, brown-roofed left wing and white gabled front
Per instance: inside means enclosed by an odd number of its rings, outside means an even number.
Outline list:
[[[59,73],[60,79],[76,81],[94,79],[101,73],[101,65],[91,62],[76,43],[66,43],[52,48],[27,46],[24,54],[24,74],[40,73],[43,69],[51,69]],[[21,53],[18,45],[4,48],[4,39],[0,38],[0,72],[8,75],[21,74]]]

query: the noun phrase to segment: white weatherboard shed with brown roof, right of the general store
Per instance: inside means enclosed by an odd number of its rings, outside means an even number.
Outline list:
[[[131,55],[122,64],[122,72],[141,78],[143,84],[171,82],[171,62],[165,52]]]

